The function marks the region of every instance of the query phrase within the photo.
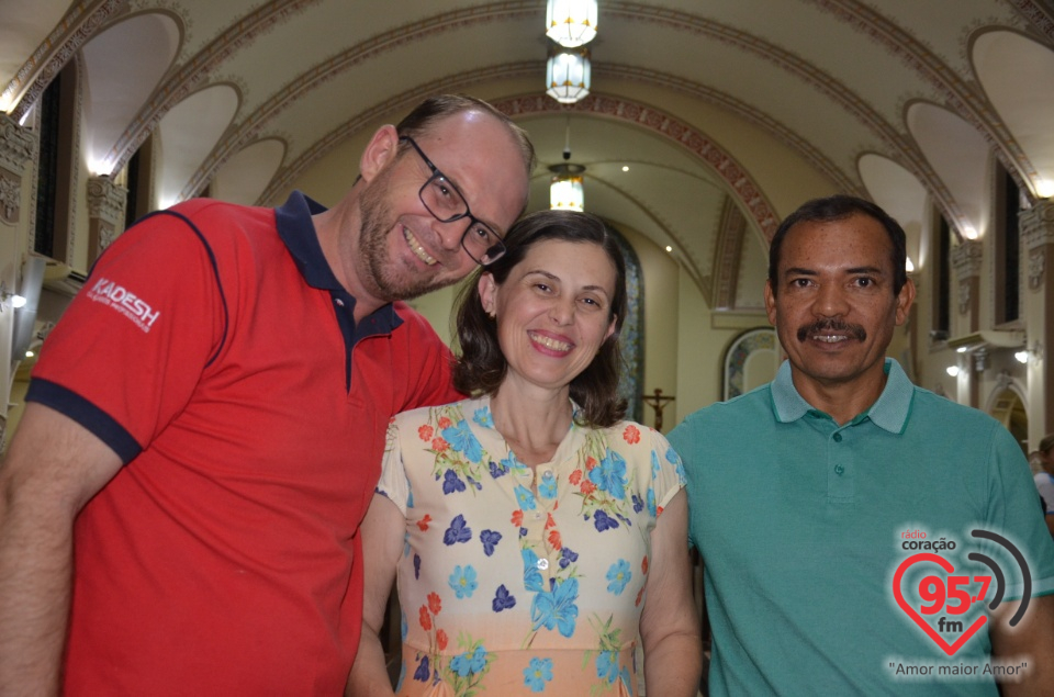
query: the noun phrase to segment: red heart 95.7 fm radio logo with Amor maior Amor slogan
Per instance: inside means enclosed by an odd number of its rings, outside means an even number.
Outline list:
[[[950,657],[969,642],[987,622],[994,622],[995,610],[1007,593],[1006,578],[1020,575],[1021,600],[1010,618],[1016,627],[1024,616],[1032,597],[1032,577],[1021,551],[1007,538],[988,530],[971,530],[971,537],[991,542],[997,557],[1010,557],[1002,563],[986,554],[968,554],[954,539],[932,539],[924,530],[908,529],[900,533],[900,548],[909,555],[902,559],[893,574],[893,597],[897,607],[921,630],[941,652]],[[957,551],[956,551],[957,550]],[[1008,571],[1003,570],[1003,566]],[[1017,569],[1013,569],[1017,566]],[[1019,676],[1028,671],[1027,662],[1001,664],[989,661],[973,664],[932,664],[931,661],[892,662],[895,675],[919,676]]]

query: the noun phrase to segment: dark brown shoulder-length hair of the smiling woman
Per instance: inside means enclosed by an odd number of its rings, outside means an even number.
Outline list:
[[[457,301],[457,331],[461,356],[453,370],[453,384],[464,394],[494,394],[505,380],[508,363],[497,340],[497,323],[483,310],[480,277],[490,273],[501,285],[524,260],[530,248],[548,239],[599,245],[615,266],[615,295],[610,312],[615,331],[601,345],[596,358],[571,381],[571,398],[582,407],[584,425],[605,428],[626,414],[626,401],[618,396],[621,353],[618,333],[626,318],[626,261],[615,234],[595,215],[572,211],[539,211],[520,218],[505,236],[508,251],[494,263],[478,269]]]

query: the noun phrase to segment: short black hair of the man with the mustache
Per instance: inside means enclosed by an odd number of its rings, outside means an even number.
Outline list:
[[[866,215],[878,221],[886,228],[886,234],[889,235],[889,241],[893,245],[889,252],[889,258],[893,261],[893,294],[898,295],[900,289],[908,282],[908,270],[906,268],[908,241],[904,228],[888,213],[871,201],[846,194],[806,201],[780,224],[776,234],[772,236],[772,243],[769,245],[769,284],[772,288],[772,294],[775,295],[778,288],[780,249],[783,247],[783,240],[792,227],[798,223],[830,223],[853,215]]]

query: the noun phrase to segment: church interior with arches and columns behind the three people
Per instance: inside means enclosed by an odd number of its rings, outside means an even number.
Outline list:
[[[541,0],[0,0],[3,441],[136,218],[294,189],[333,204],[369,135],[438,92],[527,130],[528,210],[570,181],[621,235],[639,420],[668,431],[772,379],[767,240],[844,192],[908,234],[919,296],[889,355],[1025,451],[1054,431],[1051,0],[595,4],[568,67]],[[413,301],[447,339],[455,293]]]

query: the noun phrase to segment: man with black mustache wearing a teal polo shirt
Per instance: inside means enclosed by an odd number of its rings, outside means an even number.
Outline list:
[[[905,258],[878,206],[804,204],[765,284],[788,360],[670,434],[711,695],[1051,694],[1054,542],[1028,463],[885,358],[915,300]]]

